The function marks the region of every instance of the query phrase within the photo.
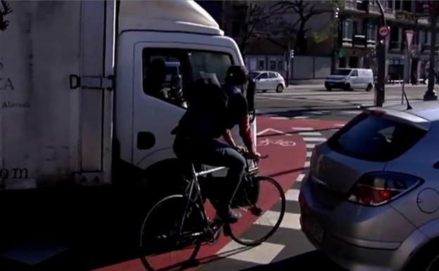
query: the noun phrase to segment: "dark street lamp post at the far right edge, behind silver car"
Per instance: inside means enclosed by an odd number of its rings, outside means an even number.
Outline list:
[[[435,52],[436,52],[436,24],[438,22],[439,5],[435,1],[429,4],[431,18],[431,44],[430,44],[430,67],[428,68],[428,87],[424,94],[424,101],[434,101],[438,99],[438,95],[434,90],[435,85]]]

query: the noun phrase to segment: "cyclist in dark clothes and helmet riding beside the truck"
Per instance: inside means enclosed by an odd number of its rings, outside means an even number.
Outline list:
[[[235,125],[239,125],[239,134],[250,156],[259,157],[260,154],[253,146],[248,106],[243,96],[247,82],[246,68],[229,67],[225,82],[222,89],[217,84],[196,85],[198,88],[203,88],[204,93],[224,93],[226,102],[224,103],[220,95],[213,95],[217,97],[217,101],[212,101],[208,105],[191,108],[190,104],[178,127],[173,131],[173,134],[176,134],[174,152],[179,158],[189,156],[196,163],[225,166],[229,169],[226,176],[229,182],[225,186],[227,189],[220,198],[212,202],[212,205],[217,210],[219,219],[236,222],[241,218],[241,213],[231,210],[229,201],[243,177],[246,160],[239,153],[240,148],[235,144],[230,130]],[[227,144],[222,143],[220,137],[223,137]]]

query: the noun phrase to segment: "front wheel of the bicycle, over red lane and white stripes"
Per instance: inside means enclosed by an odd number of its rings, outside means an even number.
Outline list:
[[[286,199],[284,189],[270,177],[248,177],[244,181],[247,183],[241,184],[242,189],[231,205],[243,217],[234,224],[226,225],[224,233],[238,244],[257,246],[269,239],[281,225]]]

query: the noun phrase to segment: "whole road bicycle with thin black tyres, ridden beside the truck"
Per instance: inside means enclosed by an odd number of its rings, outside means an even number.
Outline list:
[[[259,158],[250,157],[246,151],[242,154],[246,158],[246,173],[229,202],[232,209],[239,209],[243,213],[242,218],[232,224],[208,218],[198,177],[225,168],[196,172],[191,163],[184,194],[174,194],[158,201],[144,219],[140,233],[140,259],[146,270],[158,270],[158,265],[163,262],[168,266],[162,270],[198,265],[196,256],[201,245],[215,243],[221,229],[225,236],[244,246],[257,246],[276,232],[285,214],[284,190],[275,179],[259,175]],[[249,160],[253,162],[253,168],[250,168]],[[263,208],[268,210],[272,206],[275,211],[264,212]],[[253,222],[260,229],[257,232],[243,232]],[[256,237],[262,232],[265,233]]]

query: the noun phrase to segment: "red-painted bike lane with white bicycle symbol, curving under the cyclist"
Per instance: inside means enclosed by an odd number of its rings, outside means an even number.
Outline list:
[[[281,184],[284,191],[287,191],[295,182],[300,172],[302,172],[306,159],[306,146],[302,137],[294,127],[309,127],[315,130],[338,128],[343,122],[329,120],[284,120],[268,117],[257,118],[257,151],[267,154],[269,157],[259,163],[260,174],[268,175],[276,179]],[[273,206],[278,198],[264,195],[265,200],[260,203],[263,209],[268,210]],[[205,206],[208,216],[212,218],[215,215],[210,203]],[[234,225],[235,232],[243,232],[253,225],[254,219],[245,215]],[[197,259],[201,265],[208,263],[217,256],[216,253],[224,246],[229,244],[230,238],[221,235],[215,244],[204,245],[198,253]],[[185,260],[188,251],[177,251],[172,255],[172,262],[178,263]],[[169,258],[156,258],[156,263],[163,267],[172,265]],[[141,271],[145,267],[139,259],[129,260],[124,263],[118,263],[108,267],[96,269],[96,271]],[[172,269],[171,269],[172,270]],[[196,268],[191,268],[196,270]]]

